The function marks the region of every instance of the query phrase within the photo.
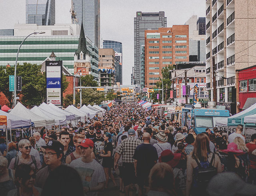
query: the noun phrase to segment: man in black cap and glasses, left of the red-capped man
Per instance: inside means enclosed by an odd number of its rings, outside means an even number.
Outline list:
[[[64,164],[61,161],[63,156],[64,146],[56,140],[50,140],[47,146],[42,146],[44,151],[44,162],[46,167],[42,168],[36,173],[36,184],[35,186],[43,188],[46,179],[50,172],[55,170],[58,166]]]

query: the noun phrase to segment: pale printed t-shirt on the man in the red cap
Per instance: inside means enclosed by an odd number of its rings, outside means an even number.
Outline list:
[[[84,187],[96,187],[98,183],[105,182],[105,172],[103,167],[93,159],[90,163],[85,163],[82,161],[82,157],[73,160],[70,166],[75,168],[82,178],[82,183]],[[97,196],[97,192],[89,192],[85,196]]]

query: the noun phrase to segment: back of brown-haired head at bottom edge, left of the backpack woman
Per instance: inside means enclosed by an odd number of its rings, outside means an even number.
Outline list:
[[[157,163],[150,170],[148,176],[149,188],[147,196],[176,196],[174,188],[174,174],[172,167],[167,163]]]

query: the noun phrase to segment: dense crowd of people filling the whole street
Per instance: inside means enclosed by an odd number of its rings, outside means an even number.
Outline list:
[[[256,195],[256,134],[246,144],[242,130],[196,134],[136,103],[119,104],[60,132],[42,129],[8,146],[0,138],[0,196]]]

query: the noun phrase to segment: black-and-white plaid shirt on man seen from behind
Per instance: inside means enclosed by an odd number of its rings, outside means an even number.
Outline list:
[[[140,140],[136,139],[134,136],[129,136],[121,142],[116,152],[122,155],[124,163],[133,163],[134,159],[132,157],[135,149],[140,144],[142,144]]]

